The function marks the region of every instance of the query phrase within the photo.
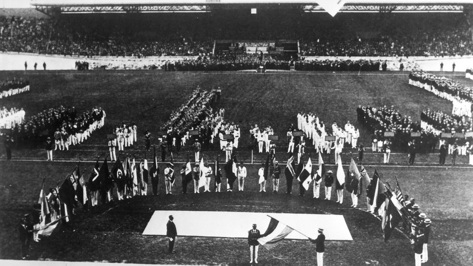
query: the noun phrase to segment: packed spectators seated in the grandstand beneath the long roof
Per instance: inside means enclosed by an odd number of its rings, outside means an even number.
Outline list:
[[[239,12],[198,16],[173,13],[152,18],[110,15],[100,19],[93,16],[83,19],[77,15],[62,17],[59,21],[1,16],[0,50],[84,56],[198,55],[211,52],[215,39],[299,39],[302,55],[473,53],[468,24],[460,16],[427,14],[398,18],[392,15],[379,21],[376,16],[340,15],[331,21],[312,14],[292,14],[295,20],[285,15],[280,16],[277,11],[254,17]],[[76,23],[78,20],[81,23]],[[354,26],[354,20],[359,22],[358,26]]]

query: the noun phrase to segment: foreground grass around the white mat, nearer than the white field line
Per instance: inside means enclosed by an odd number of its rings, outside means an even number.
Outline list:
[[[64,174],[73,166],[71,162],[0,162],[0,167],[5,170],[0,174],[2,185],[0,226],[4,229],[0,235],[2,258],[19,256],[16,218],[27,212],[31,204],[37,201],[41,177],[47,177],[46,187],[53,186],[58,180],[63,179]],[[91,169],[93,164],[84,164],[83,168],[86,167]],[[335,167],[328,169],[336,170]],[[158,196],[148,195],[109,203],[89,213],[84,213],[82,208],[79,208],[70,226],[62,227],[63,231],[57,231],[51,237],[43,237],[39,243],[32,244],[31,258],[141,263],[230,265],[247,263],[249,252],[246,239],[179,237],[176,244],[178,253],[168,255],[167,240],[164,237],[141,235],[154,210],[202,210],[342,214],[354,241],[327,242],[327,263],[361,265],[371,260],[378,261],[380,265],[414,263],[409,241],[399,232],[395,232],[391,239],[384,243],[381,221],[364,211],[349,208],[351,200],[348,194],[345,194],[343,205],[335,203],[334,200],[331,202],[315,200],[312,198],[311,190],[307,191],[304,197],[300,197],[298,184],[294,182],[292,195],[286,195],[283,193],[286,189],[284,178],[281,179],[278,194],[259,193],[257,166],[248,166],[248,171],[249,178],[245,182],[245,192],[183,195],[178,177],[174,194],[166,196],[161,176]],[[373,171],[372,167],[368,168],[370,175]],[[445,171],[419,168],[400,170],[384,167],[378,171],[381,178],[391,184],[395,183],[393,176],[399,175],[404,192],[415,197],[421,206],[421,211],[433,220],[428,263],[468,265],[471,262],[468,250],[473,243],[471,233],[473,226],[470,220],[473,202],[469,192],[473,179],[470,170],[458,168]],[[88,178],[89,171],[86,176]],[[446,179],[448,182],[443,181]],[[222,187],[225,186],[226,179],[222,183]],[[267,188],[271,191],[269,184]],[[149,187],[148,194],[150,192]],[[335,198],[335,191],[332,194],[332,198]],[[321,197],[324,197],[323,191]],[[364,209],[365,206],[363,195],[359,207]],[[188,224],[198,226],[192,221]],[[216,224],[218,221],[213,221],[209,217],[209,223],[203,226]],[[264,231],[265,228],[260,230]],[[285,240],[269,252],[261,248],[259,261],[265,265],[288,263],[303,265],[315,259],[313,249],[314,246],[308,241]]]

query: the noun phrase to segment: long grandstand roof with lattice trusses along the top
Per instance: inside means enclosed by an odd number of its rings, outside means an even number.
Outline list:
[[[463,12],[471,0],[33,0],[47,14],[210,12],[214,8],[299,8],[304,12]]]

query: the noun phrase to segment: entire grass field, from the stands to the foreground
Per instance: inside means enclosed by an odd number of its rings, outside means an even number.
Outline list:
[[[43,160],[42,149],[14,150],[17,161],[0,161],[0,258],[19,258],[17,221],[37,201],[41,181],[46,177],[46,187],[63,180],[75,166],[73,160],[93,161],[96,156],[108,153],[105,135],[120,122],[135,121],[138,138],[146,128],[155,132],[171,111],[180,106],[187,95],[200,85],[202,88],[221,87],[225,120],[242,125],[239,158],[250,162],[250,125],[270,124],[276,134],[284,135],[289,123],[296,123],[298,111],[314,111],[331,124],[334,120],[345,123],[356,122],[355,108],[358,104],[372,106],[395,105],[403,114],[420,118],[426,108],[451,111],[451,103],[418,88],[409,87],[407,74],[387,73],[383,75],[356,74],[279,74],[256,75],[249,73],[162,73],[151,71],[121,72],[45,72],[29,75],[31,91],[0,101],[6,107],[23,107],[27,116],[53,106],[75,106],[78,111],[94,106],[104,108],[106,125],[94,132],[84,145],[73,147],[68,152],[55,152],[57,159],[66,162],[37,162]],[[23,77],[23,72],[0,72],[5,77]],[[364,128],[360,128],[361,143],[369,143]],[[152,139],[156,143],[156,139]],[[282,143],[278,143],[282,146]],[[127,150],[139,157],[143,142]],[[176,155],[176,161],[184,161],[185,151]],[[208,154],[212,160],[218,153]],[[2,159],[5,155],[2,151]],[[379,154],[366,154],[366,162],[373,165],[381,162]],[[278,157],[283,162],[284,156]],[[316,156],[312,155],[312,159]],[[264,155],[255,157],[261,161]],[[149,159],[149,154],[148,154]],[[326,160],[326,158],[324,158]],[[349,163],[347,150],[343,156]],[[433,221],[429,262],[425,265],[470,265],[473,263],[473,172],[470,168],[400,167],[406,163],[406,155],[393,154],[392,166],[376,166],[381,178],[395,184],[398,177],[403,190],[415,197]],[[421,155],[419,162],[430,165],[437,162],[437,155]],[[466,163],[466,158],[460,158]],[[69,162],[67,162],[69,161]],[[326,160],[327,161],[327,160]],[[333,156],[332,156],[333,163]],[[86,176],[90,175],[93,163],[84,163]],[[111,169],[112,165],[109,165]],[[142,236],[146,223],[154,210],[205,210],[246,211],[282,213],[330,213],[343,214],[354,241],[330,241],[325,256],[328,265],[408,265],[414,264],[414,254],[409,241],[396,233],[387,243],[382,240],[381,222],[361,210],[349,208],[349,195],[344,205],[312,199],[311,190],[304,197],[297,196],[297,182],[293,194],[286,195],[285,179],[281,179],[280,193],[258,193],[257,166],[248,165],[249,178],[244,193],[222,192],[193,193],[173,196],[164,195],[163,180],[160,180],[159,196],[136,197],[120,203],[109,203],[96,210],[77,216],[63,232],[32,245],[32,259],[71,261],[113,261],[177,264],[229,264],[248,263],[248,246],[245,239],[223,239],[182,237],[178,239],[175,255],[165,254],[167,241],[164,237]],[[335,166],[329,166],[333,169]],[[345,167],[345,171],[348,168]],[[368,166],[372,175],[374,166]],[[162,177],[163,178],[163,177]],[[177,179],[176,192],[180,192]],[[225,181],[222,187],[225,187]],[[269,187],[269,184],[267,185]],[[224,190],[224,189],[223,189]],[[322,196],[323,196],[323,192]],[[335,194],[335,193],[333,193]],[[332,195],[334,198],[335,195]],[[364,197],[360,209],[365,208]],[[218,221],[209,221],[209,226]],[[193,226],[190,222],[190,226]],[[179,229],[178,229],[179,230]],[[261,228],[260,230],[264,230]],[[316,229],[314,229],[316,230]],[[308,241],[283,241],[274,250],[260,249],[260,264],[304,265],[315,260],[314,246]]]

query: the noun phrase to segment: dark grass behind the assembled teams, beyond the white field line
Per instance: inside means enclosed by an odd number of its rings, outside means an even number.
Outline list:
[[[74,106],[79,113],[95,106],[106,113],[105,126],[93,132],[83,145],[71,147],[73,152],[55,152],[56,159],[88,160],[97,154],[105,155],[106,134],[122,122],[136,122],[138,145],[125,152],[143,156],[142,136],[150,129],[151,143],[159,145],[155,132],[168,119],[172,110],[186,101],[189,93],[200,85],[204,89],[222,88],[219,107],[224,107],[225,120],[241,125],[240,148],[236,152],[250,158],[250,127],[271,125],[280,136],[277,151],[285,147],[285,134],[290,123],[296,124],[299,111],[315,112],[330,127],[333,121],[344,125],[347,120],[360,128],[359,143],[370,146],[371,138],[363,126],[356,122],[358,104],[372,106],[394,105],[402,114],[420,120],[423,109],[435,108],[451,112],[449,101],[436,97],[422,89],[409,86],[408,76],[399,72],[375,73],[374,75],[347,75],[285,73],[261,75],[254,73],[166,73],[155,71],[106,71],[106,72],[0,72],[0,78],[23,77],[31,82],[31,91],[2,100],[7,108],[23,107],[27,117],[59,105]],[[311,147],[311,144],[308,145]],[[39,149],[14,150],[13,157],[44,159]],[[192,150],[189,146],[184,151]],[[214,147],[213,151],[217,151]],[[349,152],[348,149],[345,150]],[[313,153],[309,148],[308,153]],[[356,151],[352,151],[355,152]],[[91,155],[92,154],[92,155]],[[175,154],[176,161],[185,161],[186,153]],[[214,158],[215,154],[210,158]],[[149,156],[149,154],[148,154]],[[5,154],[2,153],[2,157]],[[461,157],[459,163],[466,163]],[[371,162],[381,162],[377,156]],[[404,164],[407,159],[401,158]],[[420,160],[418,160],[420,162]],[[436,162],[428,158],[425,162]]]

